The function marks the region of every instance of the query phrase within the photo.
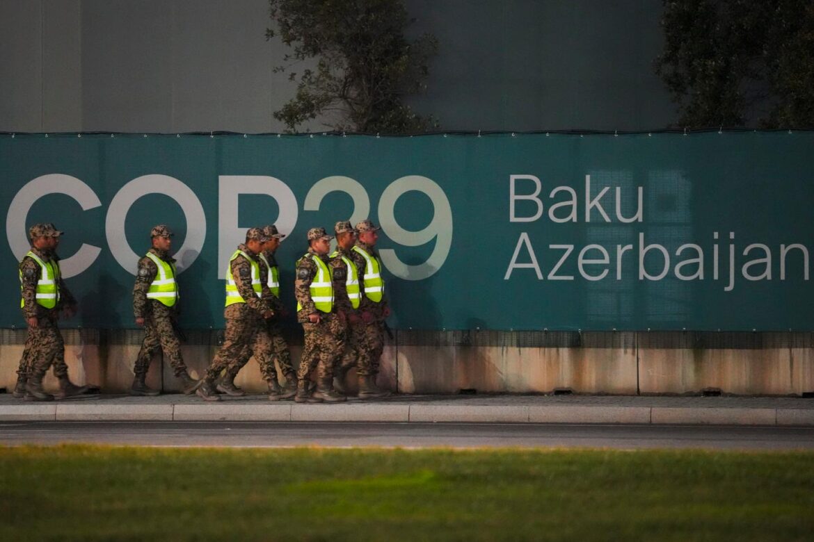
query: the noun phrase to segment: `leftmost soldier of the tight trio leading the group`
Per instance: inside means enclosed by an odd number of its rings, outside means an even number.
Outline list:
[[[345,307],[335,299],[337,284],[344,285],[344,262],[331,262],[331,237],[325,228],[308,232],[309,250],[297,260],[294,293],[297,320],[305,332],[305,345],[297,371],[298,403],[346,401],[333,389],[334,363],[344,351]],[[317,391],[309,393],[309,374],[317,367]]]

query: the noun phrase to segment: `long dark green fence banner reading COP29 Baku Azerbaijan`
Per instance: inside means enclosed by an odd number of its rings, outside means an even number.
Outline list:
[[[0,326],[24,325],[33,223],[66,232],[64,325],[134,327],[136,262],[166,223],[182,325],[206,328],[246,228],[288,234],[293,313],[305,232],[370,218],[392,327],[812,330],[812,149],[814,132],[2,134]]]

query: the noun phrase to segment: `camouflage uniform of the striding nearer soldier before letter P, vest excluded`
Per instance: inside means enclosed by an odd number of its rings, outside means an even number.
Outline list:
[[[252,230],[255,229],[259,230],[259,228],[252,228]],[[256,254],[247,245],[241,244],[238,249],[247,254],[249,258],[256,258]],[[246,365],[249,358],[252,357],[252,352],[256,353],[270,348],[268,332],[260,323],[262,314],[272,309],[269,302],[262,297],[257,297],[252,289],[252,263],[239,254],[232,260],[230,266],[240,297],[243,297],[243,301],[246,302],[227,306],[223,311],[226,331],[223,345],[206,371],[205,379],[210,384],[214,384],[215,379],[224,369],[226,375],[234,379],[234,375],[237,375],[241,367]],[[268,289],[265,284],[262,286]],[[265,371],[268,371],[268,367],[265,368]],[[264,373],[264,376],[268,375]]]

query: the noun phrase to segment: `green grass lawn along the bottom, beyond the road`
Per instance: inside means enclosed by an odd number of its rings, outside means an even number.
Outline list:
[[[0,448],[0,540],[814,540],[814,453]]]

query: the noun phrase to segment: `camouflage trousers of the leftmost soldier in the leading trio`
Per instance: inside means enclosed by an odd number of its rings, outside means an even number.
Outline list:
[[[334,363],[345,349],[345,323],[336,314],[321,313],[320,316],[320,323],[303,323],[305,345],[297,370],[299,380],[308,379],[314,367],[317,367],[317,381],[332,378]]]

